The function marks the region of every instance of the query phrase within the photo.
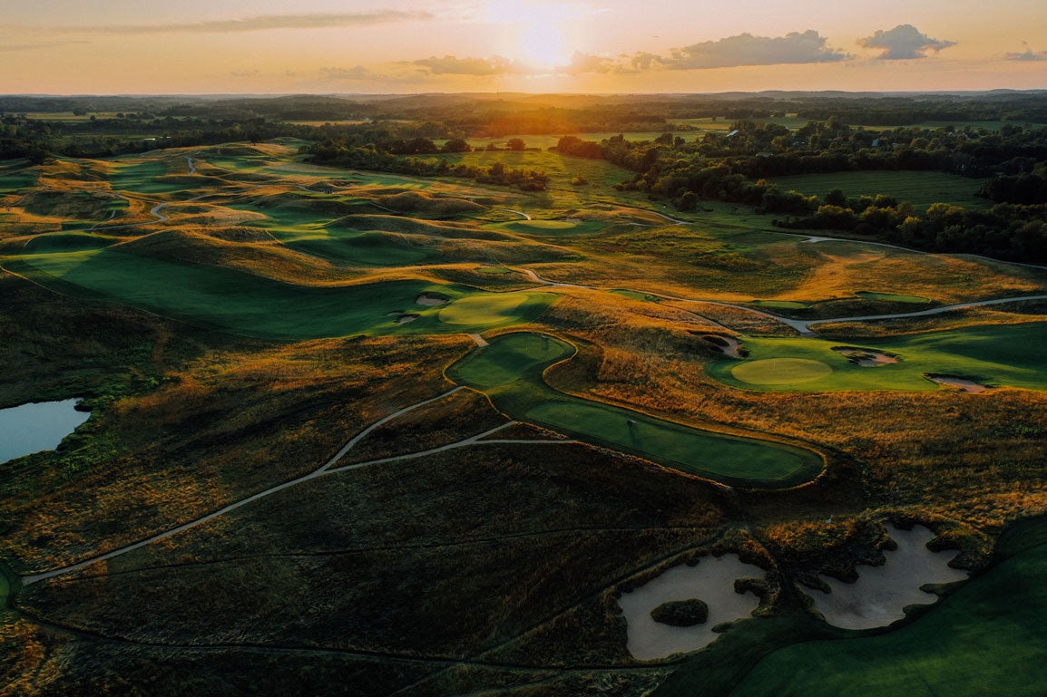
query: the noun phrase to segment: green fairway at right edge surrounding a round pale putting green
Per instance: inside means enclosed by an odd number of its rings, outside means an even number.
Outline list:
[[[1009,385],[1047,389],[1047,322],[992,324],[931,332],[895,339],[862,340],[868,347],[899,357],[897,363],[864,367],[855,365],[824,339],[776,339],[750,337],[750,352],[742,362],[717,361],[707,366],[712,377],[729,385],[751,389],[799,391],[830,390],[928,390],[938,389],[927,374],[968,378],[988,386]],[[785,361],[788,361],[787,363]],[[823,375],[808,373],[804,382],[775,381],[776,364],[789,369],[824,364]],[[802,369],[801,369],[802,373]]]

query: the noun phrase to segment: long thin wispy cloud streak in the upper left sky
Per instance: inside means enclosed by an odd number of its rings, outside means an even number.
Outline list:
[[[170,24],[98,24],[84,26],[58,26],[51,31],[63,33],[235,33],[243,31],[269,31],[272,29],[330,29],[372,26],[394,22],[420,22],[433,19],[425,12],[388,9],[372,13],[311,14],[311,15],[258,15],[226,20],[180,22]]]

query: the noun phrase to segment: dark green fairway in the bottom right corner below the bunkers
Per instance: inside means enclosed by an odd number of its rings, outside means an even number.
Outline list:
[[[987,571],[914,623],[775,651],[731,697],[1040,697],[1047,627],[1047,522],[1020,523]]]

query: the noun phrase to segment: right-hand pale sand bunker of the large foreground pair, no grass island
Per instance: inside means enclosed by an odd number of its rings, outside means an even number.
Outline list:
[[[934,593],[920,590],[928,583],[963,581],[967,572],[949,566],[957,552],[931,552],[927,543],[934,533],[920,525],[911,531],[887,526],[898,548],[884,549],[887,563],[883,566],[857,567],[859,579],[844,583],[823,577],[832,592],[806,590],[815,608],[825,621],[843,629],[886,627],[906,616],[909,605],[930,605],[938,600]]]

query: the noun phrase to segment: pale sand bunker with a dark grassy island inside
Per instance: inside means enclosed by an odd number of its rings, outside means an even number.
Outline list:
[[[736,593],[736,579],[763,578],[763,569],[744,564],[737,555],[703,557],[697,566],[673,566],[618,600],[628,628],[628,649],[634,658],[652,660],[697,651],[716,640],[713,627],[749,617],[760,605],[753,593]],[[705,624],[673,627],[654,622],[651,610],[664,603],[696,598],[709,606]]]

